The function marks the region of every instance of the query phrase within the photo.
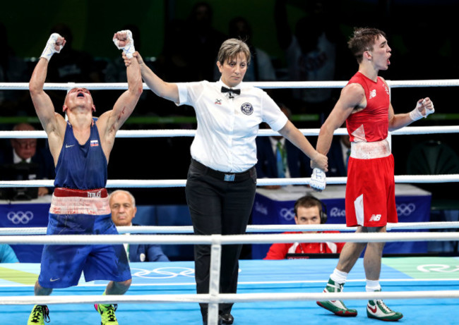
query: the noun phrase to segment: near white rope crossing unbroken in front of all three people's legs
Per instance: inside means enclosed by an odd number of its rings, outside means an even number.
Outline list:
[[[116,245],[116,244],[201,244],[237,245],[272,243],[383,243],[399,241],[459,240],[459,232],[445,233],[298,233],[258,235],[4,235],[0,243],[8,245]]]

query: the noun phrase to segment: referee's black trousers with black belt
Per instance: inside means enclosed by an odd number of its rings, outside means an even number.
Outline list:
[[[194,162],[194,164],[193,164]],[[247,223],[254,204],[256,171],[244,180],[225,181],[215,177],[205,166],[191,162],[186,180],[186,202],[188,203],[196,235],[235,235],[246,232]],[[239,271],[239,256],[242,245],[222,245],[220,269],[220,293],[236,293]],[[194,246],[194,264],[197,293],[209,292],[210,245]],[[207,304],[200,304],[203,317]],[[233,304],[220,304],[222,313],[231,311]]]

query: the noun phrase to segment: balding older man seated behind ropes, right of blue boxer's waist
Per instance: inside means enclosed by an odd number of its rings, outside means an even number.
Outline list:
[[[139,226],[132,223],[136,216],[136,199],[125,190],[116,190],[109,196],[112,220],[115,226]],[[169,262],[160,245],[124,244],[129,262]]]

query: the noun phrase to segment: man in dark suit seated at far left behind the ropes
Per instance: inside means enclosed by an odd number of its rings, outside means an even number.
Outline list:
[[[13,131],[34,131],[28,123],[19,123]],[[13,168],[22,166],[23,168]],[[54,163],[49,149],[37,147],[37,139],[11,139],[11,148],[0,151],[0,165],[4,166],[5,180],[54,179]],[[17,175],[16,172],[18,171]],[[23,171],[20,173],[19,171]],[[8,178],[8,179],[6,179]],[[38,196],[50,194],[52,188],[38,188]],[[36,195],[36,194],[35,194]]]

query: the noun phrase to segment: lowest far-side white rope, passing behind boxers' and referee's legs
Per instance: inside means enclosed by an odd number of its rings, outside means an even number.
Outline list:
[[[459,221],[442,222],[400,222],[388,223],[388,231],[408,229],[455,229]],[[347,227],[342,223],[321,225],[249,225],[247,233],[271,233],[284,231],[355,231],[357,227]],[[45,227],[0,228],[0,235],[45,235]],[[118,226],[118,233],[193,233],[193,226]]]

